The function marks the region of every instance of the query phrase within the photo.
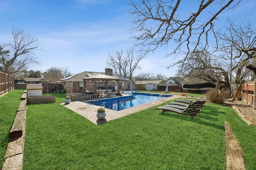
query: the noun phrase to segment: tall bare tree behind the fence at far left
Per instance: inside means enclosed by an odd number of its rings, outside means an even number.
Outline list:
[[[12,55],[2,54],[0,61],[0,71],[14,74],[26,69],[30,63],[39,64],[33,57],[33,52],[38,49],[38,39],[29,34],[25,34],[24,30],[12,30],[12,42],[2,45],[2,48],[10,48]],[[2,50],[1,50],[2,51]]]

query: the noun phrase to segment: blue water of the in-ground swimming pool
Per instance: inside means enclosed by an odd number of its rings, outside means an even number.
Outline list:
[[[134,92],[132,95],[120,97],[118,98],[118,100],[117,98],[110,98],[110,99],[99,100],[98,102],[90,101],[88,103],[91,103],[97,106],[102,106],[115,111],[119,111],[122,109],[127,109],[130,107],[139,106],[141,104],[156,101],[158,96],[159,94]],[[172,95],[166,95],[166,97],[170,97],[170,96]]]

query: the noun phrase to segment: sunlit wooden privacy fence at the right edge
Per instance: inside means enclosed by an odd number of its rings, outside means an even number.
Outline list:
[[[242,100],[247,104],[251,104],[254,109],[256,108],[255,91],[256,91],[256,81],[246,82],[243,84]]]

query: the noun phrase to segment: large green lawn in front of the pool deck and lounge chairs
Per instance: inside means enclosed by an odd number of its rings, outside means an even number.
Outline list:
[[[95,125],[58,104],[65,94],[53,95],[54,104],[27,106],[24,170],[225,170],[224,121],[247,170],[256,169],[256,127],[230,107],[206,104],[195,119],[151,107]]]

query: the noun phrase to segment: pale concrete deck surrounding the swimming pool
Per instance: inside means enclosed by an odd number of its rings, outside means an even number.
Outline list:
[[[67,107],[68,109],[82,115],[83,117],[85,117],[86,119],[88,119],[89,121],[91,121],[92,123],[97,125],[97,124],[104,123],[106,121],[111,121],[111,120],[117,119],[119,117],[123,117],[123,116],[129,115],[129,114],[135,113],[136,111],[140,111],[140,110],[147,109],[149,107],[157,106],[157,105],[162,104],[168,100],[173,100],[173,99],[182,98],[182,97],[185,97],[185,96],[173,95],[168,98],[165,98],[164,100],[162,100],[162,99],[156,100],[154,102],[149,102],[149,103],[142,104],[139,106],[130,107],[128,109],[124,109],[124,110],[120,110],[120,111],[114,111],[114,110],[105,108],[106,117],[103,120],[99,120],[96,117],[97,109],[100,106],[88,104],[86,101],[70,102],[70,104],[65,104],[63,102],[61,104],[65,107]]]

